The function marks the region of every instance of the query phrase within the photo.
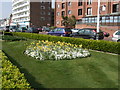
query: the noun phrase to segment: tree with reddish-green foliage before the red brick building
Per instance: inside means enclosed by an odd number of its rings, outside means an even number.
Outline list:
[[[69,28],[75,28],[75,24],[76,24],[76,18],[74,15],[72,15],[71,17],[68,16],[62,16],[62,24],[65,27],[69,27]]]

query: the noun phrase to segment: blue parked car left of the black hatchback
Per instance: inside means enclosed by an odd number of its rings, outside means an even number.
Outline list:
[[[48,32],[48,35],[56,35],[56,36],[70,36],[72,31],[70,28],[56,28]]]

